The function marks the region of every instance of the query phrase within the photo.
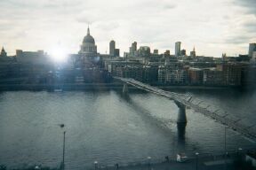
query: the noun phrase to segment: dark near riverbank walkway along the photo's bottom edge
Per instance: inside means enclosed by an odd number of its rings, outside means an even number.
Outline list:
[[[3,170],[7,170],[6,166],[2,166]],[[0,166],[1,169],[1,166]],[[61,170],[60,167],[47,167],[41,165],[33,165],[28,167],[20,167],[15,170]],[[101,165],[97,162],[97,164],[92,165],[91,167],[87,167],[89,170],[163,170],[163,169],[175,169],[175,170],[235,170],[235,169],[255,169],[253,168],[250,162],[245,161],[244,153],[232,153],[228,154],[226,157],[223,155],[215,155],[215,156],[201,156],[194,158],[188,158],[184,162],[178,162],[175,158],[166,159],[159,163],[153,163],[150,159],[142,161],[142,162],[134,162],[128,163],[127,165]]]

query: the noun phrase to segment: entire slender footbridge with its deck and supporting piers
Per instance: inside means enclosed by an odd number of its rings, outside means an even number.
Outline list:
[[[132,85],[133,87],[136,87],[138,89],[143,89],[145,91],[154,93],[156,95],[166,97],[168,99],[171,99],[174,101],[175,104],[179,107],[179,113],[178,113],[178,119],[177,123],[187,123],[187,117],[186,117],[186,108],[193,109],[195,112],[203,113],[205,116],[212,118],[213,120],[216,120],[220,122],[222,125],[228,128],[231,128],[238,132],[241,135],[244,135],[247,138],[250,138],[252,141],[256,142],[256,133],[252,130],[254,128],[254,125],[242,125],[239,124],[239,121],[242,121],[242,119],[231,119],[229,118],[228,112],[221,112],[220,109],[210,105],[210,104],[203,104],[204,101],[200,101],[196,99],[196,97],[193,97],[190,94],[180,94],[180,93],[174,93],[171,91],[166,91],[164,89],[159,89],[153,86],[150,86],[146,83],[142,83],[140,81],[135,81],[131,78],[122,78],[122,77],[114,77],[114,79],[118,81],[124,82],[123,87],[123,93],[128,94],[128,85]],[[211,108],[211,109],[210,109]],[[213,108],[213,109],[212,109]]]

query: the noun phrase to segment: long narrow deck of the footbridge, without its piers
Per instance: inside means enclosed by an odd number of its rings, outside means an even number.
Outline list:
[[[155,93],[156,95],[160,95],[162,97],[167,97],[169,99],[172,99],[175,102],[178,102],[180,104],[184,104],[188,108],[191,108],[196,112],[201,112],[204,115],[212,118],[213,120],[217,120],[221,124],[228,126],[228,128],[232,128],[233,130],[237,131],[241,135],[244,135],[252,139],[253,141],[256,141],[256,134],[254,131],[251,130],[252,126],[246,127],[246,126],[238,125],[237,122],[240,120],[232,120],[228,118],[227,112],[224,112],[224,114],[220,114],[220,109],[216,107],[212,107],[211,105],[206,105],[206,107],[202,106],[201,103],[203,101],[197,100],[195,97],[192,97],[191,95],[166,91],[166,90],[159,89],[159,88],[150,86],[148,84],[142,83],[140,81],[135,81],[134,79],[130,79],[130,78],[121,78],[121,77],[114,77],[114,78],[116,80],[124,81],[125,83],[130,84],[134,87],[137,87],[138,89],[143,89],[148,92]],[[209,110],[210,107],[215,109],[211,111]]]

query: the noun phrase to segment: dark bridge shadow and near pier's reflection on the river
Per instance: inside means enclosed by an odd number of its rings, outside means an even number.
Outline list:
[[[127,93],[118,93],[122,99],[124,99],[125,102],[127,102],[128,104],[130,104],[132,106],[132,109],[134,109],[136,112],[142,112],[144,113],[144,115],[147,115],[147,119],[150,119],[150,122],[152,123],[154,121],[154,123],[156,123],[157,128],[159,128],[159,125],[163,125],[163,122],[161,120],[157,120],[157,118],[153,117],[150,114],[150,111],[148,111],[147,109],[143,108],[142,106],[140,106],[139,104],[137,104],[136,102],[134,102],[132,100],[132,98],[129,96],[129,94]],[[179,112],[177,112],[177,114],[179,114]],[[145,118],[145,117],[144,117]],[[174,122],[172,122],[174,123]],[[176,122],[175,122],[176,123]],[[174,142],[172,143],[172,147],[176,148],[178,151],[184,151],[185,146],[186,146],[186,126],[187,123],[177,123],[177,137],[174,136],[174,134],[172,133],[172,137],[175,139],[177,138]],[[164,130],[166,130],[166,132],[170,135],[170,128],[166,128],[166,127],[160,127]],[[173,132],[173,131],[172,131]],[[176,145],[176,146],[174,146]]]

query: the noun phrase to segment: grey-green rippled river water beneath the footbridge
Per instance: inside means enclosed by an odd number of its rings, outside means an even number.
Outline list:
[[[256,122],[256,93],[234,89],[179,90],[217,105],[241,124]],[[8,167],[60,166],[63,131],[68,169],[152,161],[185,152],[224,152],[224,127],[187,109],[186,127],[177,128],[178,107],[154,94],[114,90],[0,93],[0,164]],[[65,124],[60,128],[59,124]],[[254,128],[254,127],[252,127]],[[255,143],[227,129],[227,148]]]

